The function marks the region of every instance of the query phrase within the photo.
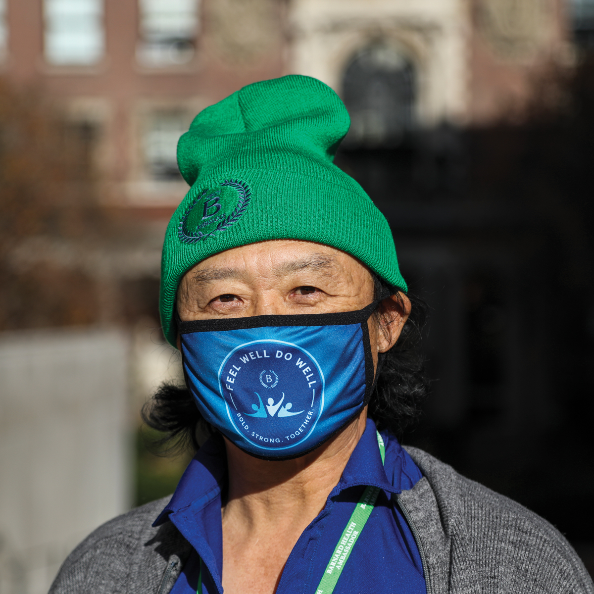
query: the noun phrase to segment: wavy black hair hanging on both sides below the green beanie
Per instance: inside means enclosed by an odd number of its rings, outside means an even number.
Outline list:
[[[396,295],[403,304],[397,287],[388,285],[373,274],[374,299]],[[422,328],[427,318],[427,305],[422,299],[407,295],[412,305],[399,339],[386,353],[378,354],[377,382],[369,400],[368,416],[378,429],[387,429],[402,438],[405,428],[421,415],[421,407],[429,391],[425,375],[425,357],[421,351]],[[375,312],[381,323],[380,313]],[[154,442],[162,453],[195,450],[198,433],[213,434],[216,430],[204,421],[186,386],[162,384],[142,410],[143,421],[163,437]],[[163,449],[165,446],[165,449]]]

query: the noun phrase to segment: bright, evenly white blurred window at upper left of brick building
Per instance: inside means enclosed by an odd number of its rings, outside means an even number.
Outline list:
[[[103,0],[45,0],[45,58],[59,66],[88,66],[103,57]]]

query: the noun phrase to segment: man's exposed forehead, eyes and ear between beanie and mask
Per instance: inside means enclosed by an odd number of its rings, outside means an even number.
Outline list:
[[[326,314],[355,311],[374,298],[369,269],[336,248],[295,239],[277,239],[215,254],[181,280],[181,320],[212,320],[270,314]],[[400,293],[369,318],[374,366],[377,353],[396,343],[410,313]],[[178,337],[179,346],[179,337]]]

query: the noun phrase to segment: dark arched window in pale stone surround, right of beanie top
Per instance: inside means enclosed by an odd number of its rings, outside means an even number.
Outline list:
[[[345,71],[342,94],[351,119],[347,145],[396,145],[413,127],[415,69],[394,48],[358,52]]]

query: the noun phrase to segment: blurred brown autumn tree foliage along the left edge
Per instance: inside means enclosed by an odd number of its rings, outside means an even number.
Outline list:
[[[84,254],[108,218],[97,203],[93,132],[39,93],[0,81],[0,330],[98,319]]]

